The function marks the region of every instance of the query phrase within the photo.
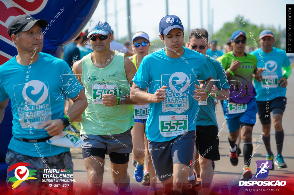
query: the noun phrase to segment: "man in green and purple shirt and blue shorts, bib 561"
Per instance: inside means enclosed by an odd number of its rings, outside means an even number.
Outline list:
[[[256,122],[257,106],[255,102],[255,89],[252,77],[261,82],[262,68],[257,68],[257,59],[254,55],[245,53],[246,34],[235,31],[231,36],[233,51],[225,53],[218,61],[225,68],[225,74],[230,84],[230,97],[223,101],[223,112],[227,119],[230,143],[230,162],[233,166],[238,164],[236,139],[241,131],[244,142],[244,168],[241,180],[252,178],[251,162],[252,130]]]

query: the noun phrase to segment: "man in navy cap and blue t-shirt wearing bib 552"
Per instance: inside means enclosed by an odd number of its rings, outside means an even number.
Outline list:
[[[188,194],[185,167],[193,162],[198,101],[205,101],[213,86],[205,57],[183,47],[183,30],[178,16],[161,19],[165,47],[143,58],[131,89],[135,102],[149,103],[148,149],[165,194],[172,188]]]

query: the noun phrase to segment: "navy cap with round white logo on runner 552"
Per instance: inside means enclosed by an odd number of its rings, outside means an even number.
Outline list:
[[[184,26],[178,16],[167,15],[164,16],[159,22],[159,33],[167,35],[173,28],[181,28],[184,30]]]

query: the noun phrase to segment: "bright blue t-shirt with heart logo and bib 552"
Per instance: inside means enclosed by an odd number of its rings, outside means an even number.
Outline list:
[[[148,87],[155,93],[163,85],[163,102],[149,103],[146,137],[154,142],[166,142],[183,134],[183,129],[196,130],[198,102],[193,99],[195,84],[211,76],[203,54],[185,48],[183,56],[170,58],[164,48],[145,56],[133,82],[138,88]],[[186,117],[188,115],[188,117]]]

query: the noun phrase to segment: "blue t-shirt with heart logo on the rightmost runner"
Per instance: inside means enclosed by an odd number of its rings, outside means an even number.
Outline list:
[[[262,73],[262,82],[257,82],[254,79],[256,100],[267,101],[276,97],[285,97],[287,88],[281,87],[278,83],[279,79],[283,77],[282,68],[290,66],[290,60],[285,50],[273,47],[273,51],[265,53],[259,48],[251,54],[255,55],[258,60],[257,67],[265,68]]]

